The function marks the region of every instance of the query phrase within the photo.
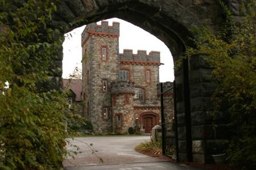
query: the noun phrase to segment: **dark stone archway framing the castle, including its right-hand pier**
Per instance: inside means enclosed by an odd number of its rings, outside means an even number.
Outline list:
[[[55,24],[67,25],[65,32],[84,24],[108,18],[120,18],[133,23],[162,40],[171,50],[174,62],[192,46],[189,31],[194,25],[210,25],[216,29],[222,22],[223,12],[214,0],[75,0],[61,1],[53,16]],[[63,32],[64,33],[64,32]],[[210,124],[205,123],[210,105],[212,83],[207,79],[209,66],[203,57],[183,59],[183,65],[175,73],[177,89],[177,121],[179,132],[179,158],[205,163],[208,154],[202,131]]]

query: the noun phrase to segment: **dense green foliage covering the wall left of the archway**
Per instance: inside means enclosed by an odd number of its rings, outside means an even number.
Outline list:
[[[63,42],[51,26],[55,1],[15,2],[0,1],[0,169],[61,169],[69,109],[49,90]]]

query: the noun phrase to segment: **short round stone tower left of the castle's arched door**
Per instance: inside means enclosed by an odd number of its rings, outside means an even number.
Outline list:
[[[135,126],[133,98],[135,83],[119,80],[111,83],[113,132],[127,133]]]

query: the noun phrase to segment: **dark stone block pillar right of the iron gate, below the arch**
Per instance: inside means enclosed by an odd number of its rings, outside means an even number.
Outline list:
[[[205,61],[206,56],[193,56],[190,58],[190,96],[191,96],[191,135],[193,162],[212,163],[212,154],[215,148],[224,150],[228,138],[228,114],[217,116],[213,130],[212,95],[216,89],[212,77],[212,68]],[[217,135],[216,135],[217,133]]]

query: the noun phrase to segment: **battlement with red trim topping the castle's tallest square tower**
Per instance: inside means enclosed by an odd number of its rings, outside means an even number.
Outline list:
[[[88,37],[88,35],[100,35],[100,36],[118,36],[119,37],[119,23],[113,22],[109,25],[106,20],[101,21],[101,25],[97,23],[91,23],[86,25],[84,31],[82,31],[82,42]]]

